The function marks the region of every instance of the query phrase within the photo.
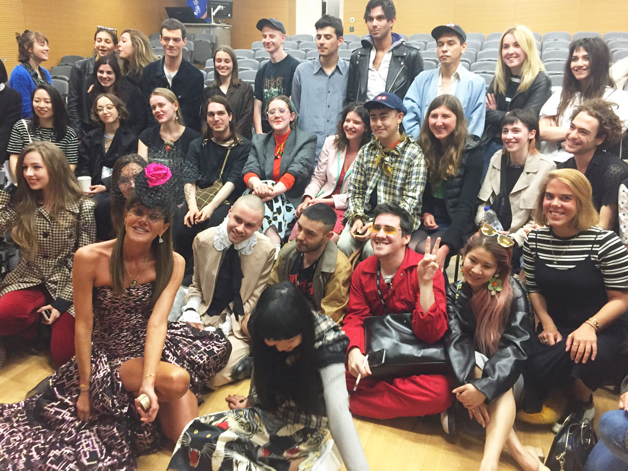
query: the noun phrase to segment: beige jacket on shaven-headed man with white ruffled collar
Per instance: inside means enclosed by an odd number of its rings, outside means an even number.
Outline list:
[[[198,313],[201,315],[205,325],[213,325],[209,321],[209,316],[205,315],[205,311],[212,303],[214,298],[214,286],[216,275],[220,267],[220,259],[222,251],[217,251],[214,247],[214,236],[216,228],[210,227],[203,230],[195,237],[192,249],[194,251],[194,274],[192,276],[192,284],[185,296],[184,303],[187,303],[191,296],[201,298]],[[259,299],[266,283],[268,276],[273,268],[275,247],[268,237],[257,233],[257,244],[250,255],[241,255],[240,263],[242,267],[242,286],[240,288],[240,296],[244,305],[244,313],[250,314]],[[225,314],[231,314],[233,303],[225,308]],[[227,312],[228,311],[228,312]],[[222,316],[221,316],[222,317]],[[240,323],[236,321],[232,315],[232,329],[236,337],[242,338]]]

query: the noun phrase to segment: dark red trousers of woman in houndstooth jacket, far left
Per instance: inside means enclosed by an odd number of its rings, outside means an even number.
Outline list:
[[[0,298],[0,335],[18,335],[28,340],[35,338],[41,306],[50,304],[44,288],[35,286],[11,291]],[[52,324],[50,352],[57,365],[74,356],[74,316],[67,311]]]

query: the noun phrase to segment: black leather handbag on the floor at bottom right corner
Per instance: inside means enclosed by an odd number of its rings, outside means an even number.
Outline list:
[[[595,443],[593,423],[582,420],[582,413],[572,413],[556,433],[545,465],[551,471],[584,471]]]

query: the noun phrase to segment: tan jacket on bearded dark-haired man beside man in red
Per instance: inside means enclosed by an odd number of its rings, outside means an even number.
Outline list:
[[[295,264],[297,255],[295,241],[281,247],[277,262],[268,279],[269,285],[288,281],[288,274]],[[347,303],[349,303],[351,272],[351,264],[347,256],[338,250],[336,244],[328,241],[314,271],[312,288],[317,312],[328,315],[337,323],[345,317]]]

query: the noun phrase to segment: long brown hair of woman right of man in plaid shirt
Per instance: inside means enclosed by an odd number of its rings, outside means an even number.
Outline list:
[[[430,129],[430,114],[436,108],[446,107],[456,116],[456,127],[447,138],[447,146],[436,139]],[[467,119],[460,100],[454,95],[440,95],[432,100],[421,126],[418,144],[423,150],[430,181],[445,181],[457,175],[462,151],[467,143]]]

